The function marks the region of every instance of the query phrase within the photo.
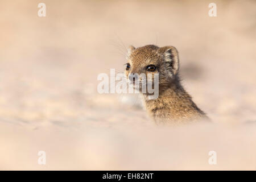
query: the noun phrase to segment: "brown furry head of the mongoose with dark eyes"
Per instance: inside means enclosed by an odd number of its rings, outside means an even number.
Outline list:
[[[179,71],[179,57],[175,47],[157,47],[154,45],[135,48],[129,47],[125,75],[129,84],[141,85],[153,83],[158,73],[159,89],[164,88],[177,79]],[[146,75],[146,81],[141,75]],[[139,77],[138,77],[139,75]]]

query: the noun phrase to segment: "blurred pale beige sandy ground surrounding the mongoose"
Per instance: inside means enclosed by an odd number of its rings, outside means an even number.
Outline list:
[[[256,3],[0,2],[0,169],[256,169]],[[137,96],[98,94],[126,48],[175,46],[210,124],[155,126]],[[46,165],[38,164],[46,151]],[[208,163],[216,151],[217,164]]]

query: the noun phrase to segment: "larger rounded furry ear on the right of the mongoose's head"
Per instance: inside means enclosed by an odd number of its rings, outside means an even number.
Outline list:
[[[164,56],[164,60],[170,65],[174,75],[179,71],[179,55],[177,49],[173,46],[164,46],[158,49],[158,52]]]

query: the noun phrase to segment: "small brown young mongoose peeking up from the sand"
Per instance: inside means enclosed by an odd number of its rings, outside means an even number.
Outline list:
[[[180,84],[179,56],[175,47],[130,46],[127,61],[125,75],[129,84],[135,84],[135,78],[130,78],[135,73],[144,73],[147,80],[148,73],[151,73],[151,81],[158,73],[158,98],[148,99],[150,94],[142,93],[141,87],[139,88],[146,110],[156,123],[184,123],[208,119]]]

